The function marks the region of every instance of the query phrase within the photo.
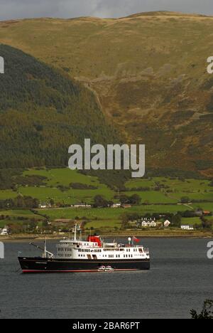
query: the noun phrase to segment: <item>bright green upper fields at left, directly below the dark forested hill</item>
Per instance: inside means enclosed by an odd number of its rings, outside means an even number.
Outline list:
[[[84,176],[80,172],[70,169],[30,169],[23,172],[23,176],[45,176],[45,186],[18,186],[16,191],[0,191],[0,199],[13,199],[18,195],[32,196],[41,202],[53,199],[55,203],[75,204],[81,202],[92,203],[97,194],[107,200],[114,199],[114,191],[107,185],[99,182],[97,177]],[[61,191],[57,186],[70,186],[71,183],[80,183],[94,186],[97,189],[68,189]],[[114,200],[116,201],[116,200]]]

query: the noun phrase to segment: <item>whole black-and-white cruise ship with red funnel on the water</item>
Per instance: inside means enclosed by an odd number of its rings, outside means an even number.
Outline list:
[[[87,240],[77,238],[77,226],[72,239],[60,240],[54,255],[44,248],[41,257],[18,256],[23,273],[77,273],[124,270],[149,270],[150,253],[143,245],[135,245],[140,240],[128,238],[126,244],[105,243],[100,236],[88,236]],[[32,244],[32,243],[31,243]],[[32,244],[33,245],[33,244]]]

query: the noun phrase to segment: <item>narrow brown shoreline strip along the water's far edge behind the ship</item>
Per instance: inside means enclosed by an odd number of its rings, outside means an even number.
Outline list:
[[[213,238],[212,231],[188,231],[188,232],[170,232],[170,231],[123,231],[121,233],[114,233],[114,232],[102,232],[100,233],[102,238],[128,238],[132,236],[136,236],[143,239],[148,238],[186,238],[186,239],[192,239],[192,238]],[[68,238],[68,235],[57,235],[57,236],[41,236],[41,235],[20,235],[20,236],[0,236],[0,242],[4,243],[27,243],[31,241],[43,241],[43,240],[62,240],[63,238]],[[83,234],[82,237],[86,238],[88,235]]]

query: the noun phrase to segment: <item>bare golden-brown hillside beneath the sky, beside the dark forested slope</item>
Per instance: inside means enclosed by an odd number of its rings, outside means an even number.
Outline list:
[[[154,12],[126,18],[0,23],[0,42],[87,85],[147,166],[213,175],[213,17]]]

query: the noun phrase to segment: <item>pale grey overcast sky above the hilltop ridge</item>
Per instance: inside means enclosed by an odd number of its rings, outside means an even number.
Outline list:
[[[43,16],[109,18],[158,10],[213,15],[213,0],[0,0],[0,20]]]

